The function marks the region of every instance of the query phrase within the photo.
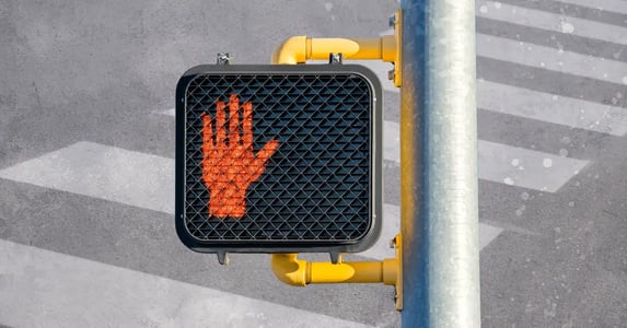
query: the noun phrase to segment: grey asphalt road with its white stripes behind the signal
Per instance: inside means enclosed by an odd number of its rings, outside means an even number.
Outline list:
[[[217,52],[267,63],[292,35],[378,36],[397,5],[0,1],[0,326],[397,326],[392,288],[290,288],[268,256],[186,249],[172,113]],[[480,0],[476,26],[483,326],[625,327],[627,2]],[[384,237],[351,258],[390,256],[398,226],[383,83]]]

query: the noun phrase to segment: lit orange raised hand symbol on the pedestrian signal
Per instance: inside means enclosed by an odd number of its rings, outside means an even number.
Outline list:
[[[266,169],[266,163],[276,152],[279,142],[268,141],[255,155],[253,153],[253,104],[244,103],[240,125],[240,98],[229,99],[229,130],[227,104],[217,102],[216,138],[211,117],[202,114],[202,180],[209,189],[209,215],[242,218],[246,211],[246,189]],[[241,134],[240,134],[241,132]],[[227,138],[229,142],[227,142]]]

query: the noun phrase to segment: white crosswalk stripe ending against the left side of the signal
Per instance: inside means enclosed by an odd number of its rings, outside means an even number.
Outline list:
[[[174,160],[151,154],[78,142],[0,177],[174,214]]]

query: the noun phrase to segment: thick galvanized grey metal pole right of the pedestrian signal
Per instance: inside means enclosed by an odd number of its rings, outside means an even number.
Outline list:
[[[402,0],[403,327],[480,327],[475,1]]]

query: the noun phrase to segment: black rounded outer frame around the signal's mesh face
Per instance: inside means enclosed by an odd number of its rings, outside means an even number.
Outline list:
[[[370,108],[370,195],[368,232],[353,241],[200,241],[185,223],[186,185],[186,93],[189,83],[204,74],[355,74],[368,81],[371,92]],[[179,239],[188,248],[200,253],[359,253],[374,245],[381,233],[383,220],[382,166],[383,166],[383,92],[376,75],[362,66],[356,65],[205,65],[194,67],[178,81],[176,87],[176,186],[175,225]],[[227,219],[228,220],[228,219]]]

